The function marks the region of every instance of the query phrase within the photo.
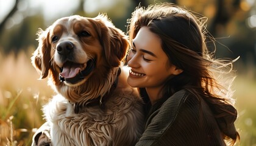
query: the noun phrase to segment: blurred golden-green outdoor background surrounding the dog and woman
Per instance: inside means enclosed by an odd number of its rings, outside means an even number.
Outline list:
[[[165,1],[157,1],[165,2]],[[235,59],[233,84],[238,108],[236,127],[241,141],[256,145],[256,1],[169,1],[208,18],[207,29],[216,38],[216,58]],[[0,0],[0,145],[30,145],[44,122],[41,107],[54,91],[30,63],[37,48],[38,28],[46,29],[63,16],[107,13],[126,32],[127,19],[138,4],[152,0]]]

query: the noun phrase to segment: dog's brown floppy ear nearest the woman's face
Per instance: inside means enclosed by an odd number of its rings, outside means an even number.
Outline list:
[[[98,15],[96,19],[99,21],[99,39],[104,46],[105,57],[111,66],[118,67],[129,47],[127,36],[106,15]]]

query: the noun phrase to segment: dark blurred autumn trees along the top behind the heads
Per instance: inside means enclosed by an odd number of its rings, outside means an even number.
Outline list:
[[[38,11],[37,15],[29,16],[23,21],[12,27],[11,29],[5,29],[8,19],[16,15],[16,13],[22,13],[18,9],[18,5],[21,2],[27,0],[16,0],[15,5],[9,14],[4,18],[4,21],[0,24],[0,48],[5,52],[15,51],[19,52],[20,49],[27,49],[27,46],[37,46],[35,33],[38,28],[46,29],[46,21],[43,18],[43,14]],[[154,4],[154,0],[119,0],[112,5],[111,9],[101,9],[98,12],[88,13],[85,11],[85,2],[87,0],[80,0],[80,5],[77,6],[76,11],[70,12],[69,15],[77,14],[82,16],[93,17],[98,15],[99,12],[107,13],[108,17],[112,19],[113,24],[116,27],[126,32],[127,19],[130,18],[133,10],[139,4],[143,7],[147,7],[149,4]],[[158,0],[157,2],[166,2]],[[208,23],[207,29],[215,38],[218,39],[217,43],[218,51],[217,57],[231,57],[236,58],[241,56],[243,59],[246,54],[252,54],[256,58],[254,46],[255,46],[255,32],[251,28],[246,27],[246,18],[250,15],[249,8],[247,11],[241,10],[241,5],[246,4],[243,0],[169,0],[174,4],[182,5],[194,12],[201,13],[207,16]],[[29,11],[29,8],[27,9]],[[118,12],[118,13],[116,13]],[[54,21],[54,20],[52,20]],[[52,22],[51,22],[52,23]],[[49,25],[49,24],[48,24]],[[229,37],[230,36],[230,37]],[[251,37],[248,37],[251,36]],[[224,44],[224,45],[222,45]],[[212,43],[208,43],[210,49],[214,49],[215,46]],[[231,50],[231,51],[230,51]],[[256,59],[255,59],[256,60]]]

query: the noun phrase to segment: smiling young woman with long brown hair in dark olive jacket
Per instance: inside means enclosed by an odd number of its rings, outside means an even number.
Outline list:
[[[127,82],[148,115],[137,145],[234,145],[232,61],[215,60],[204,19],[177,5],[138,7],[129,20]]]

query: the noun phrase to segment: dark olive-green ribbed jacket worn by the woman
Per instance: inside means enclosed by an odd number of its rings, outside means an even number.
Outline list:
[[[220,128],[235,130],[232,123],[216,120],[204,100],[180,90],[151,107],[146,130],[136,145],[226,145]]]

